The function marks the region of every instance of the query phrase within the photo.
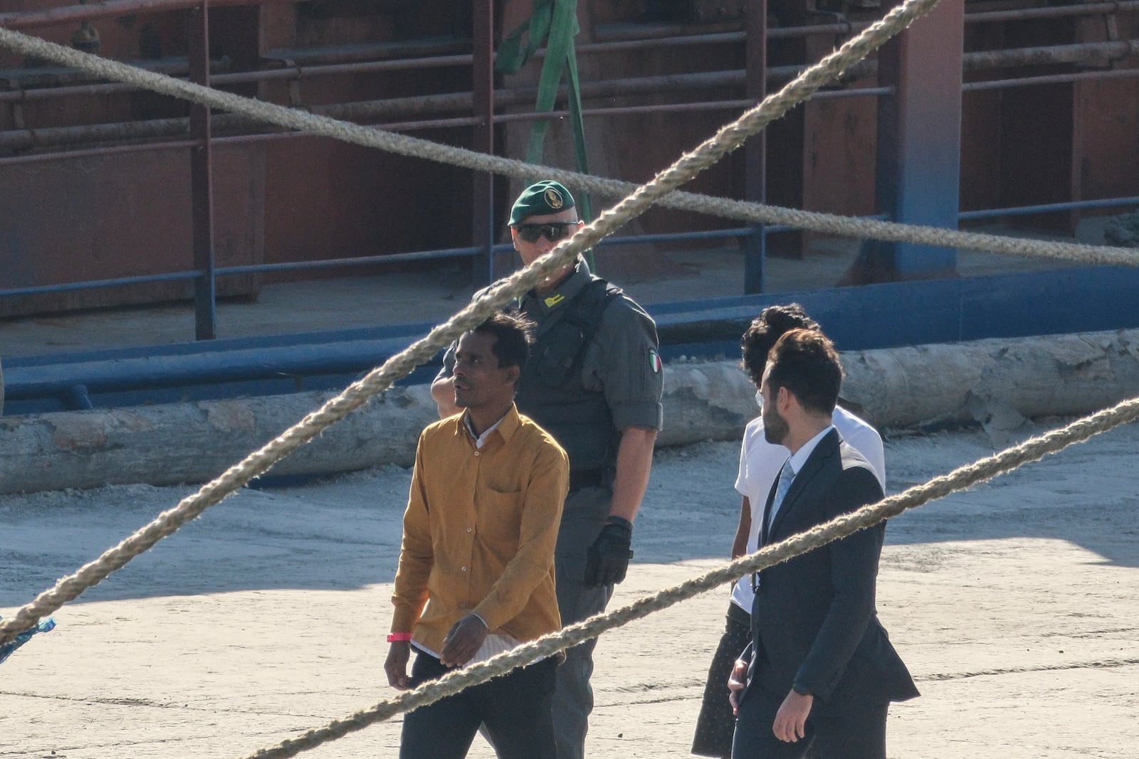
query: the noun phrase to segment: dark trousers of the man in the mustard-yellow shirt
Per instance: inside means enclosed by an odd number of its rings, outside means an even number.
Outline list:
[[[481,724],[500,759],[556,759],[550,708],[556,667],[555,659],[543,659],[409,711],[400,759],[462,759]],[[439,679],[449,671],[435,657],[416,652],[412,677]]]

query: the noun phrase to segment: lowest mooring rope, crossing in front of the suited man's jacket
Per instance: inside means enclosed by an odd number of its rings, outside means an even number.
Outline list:
[[[1079,419],[1066,427],[1031,438],[1021,445],[1006,448],[1000,453],[981,459],[972,464],[959,467],[948,475],[936,477],[924,485],[916,485],[878,503],[837,517],[825,525],[819,525],[805,533],[794,535],[781,543],[764,546],[756,553],[741,556],[731,563],[718,567],[680,585],[644,596],[631,604],[608,613],[590,617],[557,633],[550,633],[506,653],[501,653],[485,662],[456,670],[439,680],[425,683],[416,690],[403,693],[394,699],[380,701],[369,709],[358,711],[343,719],[334,720],[323,727],[311,729],[298,737],[282,741],[276,746],[262,749],[251,754],[247,759],[284,759],[285,757],[295,757],[302,751],[313,749],[321,743],[343,737],[374,723],[384,721],[394,715],[433,703],[466,687],[502,675],[515,667],[522,667],[532,661],[549,657],[557,651],[597,637],[606,630],[647,617],[680,601],[716,588],[738,577],[746,576],[749,572],[787,561],[801,553],[813,551],[831,541],[837,541],[860,529],[877,525],[884,519],[896,517],[903,511],[916,509],[929,501],[942,498],[951,493],[957,493],[978,482],[984,482],[998,475],[1013,471],[1026,463],[1039,461],[1048,454],[1063,451],[1070,445],[1082,443],[1093,435],[1106,432],[1136,419],[1139,419],[1139,398],[1124,401],[1111,409]]]

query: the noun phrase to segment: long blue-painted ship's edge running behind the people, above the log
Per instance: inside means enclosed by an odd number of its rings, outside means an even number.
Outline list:
[[[841,350],[1139,327],[1139,267],[762,294],[649,307],[666,360],[739,355],[768,305],[798,302]],[[5,360],[8,414],[343,388],[429,324],[310,332]],[[434,365],[404,382],[427,382]]]

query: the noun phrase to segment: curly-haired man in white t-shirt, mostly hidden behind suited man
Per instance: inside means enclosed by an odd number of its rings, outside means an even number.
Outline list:
[[[756,403],[760,401],[759,387],[763,380],[768,352],[784,332],[793,329],[819,330],[820,328],[813,319],[806,315],[801,305],[793,303],[786,306],[764,308],[740,338],[743,366],[755,385]],[[835,407],[831,419],[843,440],[861,453],[870,463],[874,473],[878,477],[878,482],[885,489],[885,454],[882,448],[882,437],[877,430],[838,406]],[[732,559],[754,553],[759,548],[763,504],[767,502],[771,485],[779,473],[779,468],[787,461],[787,448],[764,439],[762,416],[756,416],[747,424],[739,453],[739,475],[736,478],[736,490],[743,496],[743,501],[739,511],[739,526],[731,544]],[[731,756],[736,718],[732,715],[731,704],[728,702],[727,682],[736,657],[752,640],[753,596],[749,577],[741,577],[731,588],[731,603],[728,604],[724,633],[712,658],[707,683],[704,686],[704,701],[696,723],[696,734],[693,739],[693,753],[695,754],[723,758]]]

